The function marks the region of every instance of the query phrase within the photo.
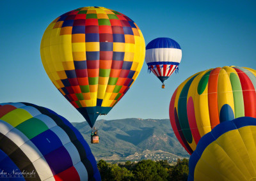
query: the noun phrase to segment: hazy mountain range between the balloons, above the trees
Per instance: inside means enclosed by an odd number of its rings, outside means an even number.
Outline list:
[[[168,119],[97,120],[100,143],[90,143],[87,122],[72,123],[83,134],[97,160],[125,161],[189,157]]]

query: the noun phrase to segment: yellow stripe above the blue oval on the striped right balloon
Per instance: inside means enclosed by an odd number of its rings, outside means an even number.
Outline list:
[[[228,77],[227,71],[225,71],[225,69],[220,70],[218,85],[221,85],[221,86],[218,86],[219,115],[220,115],[220,110],[222,106],[225,104],[229,105],[232,108],[233,112],[235,113],[232,85]]]

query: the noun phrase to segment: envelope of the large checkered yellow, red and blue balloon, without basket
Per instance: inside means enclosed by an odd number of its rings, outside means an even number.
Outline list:
[[[145,57],[145,41],[131,18],[84,7],[56,18],[41,42],[45,71],[93,127],[130,89]]]

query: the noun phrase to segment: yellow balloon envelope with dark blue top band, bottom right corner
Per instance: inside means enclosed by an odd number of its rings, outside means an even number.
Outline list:
[[[188,180],[256,180],[256,119],[222,122],[205,134],[189,159]]]

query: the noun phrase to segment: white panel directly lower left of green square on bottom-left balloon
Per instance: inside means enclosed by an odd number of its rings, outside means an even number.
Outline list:
[[[21,133],[18,129],[14,128],[12,129],[9,133],[6,134],[6,136],[12,140],[17,147],[20,147],[21,145],[23,145],[24,143],[26,143],[26,141],[28,141],[29,139],[27,138],[27,136],[25,136],[23,133]]]

